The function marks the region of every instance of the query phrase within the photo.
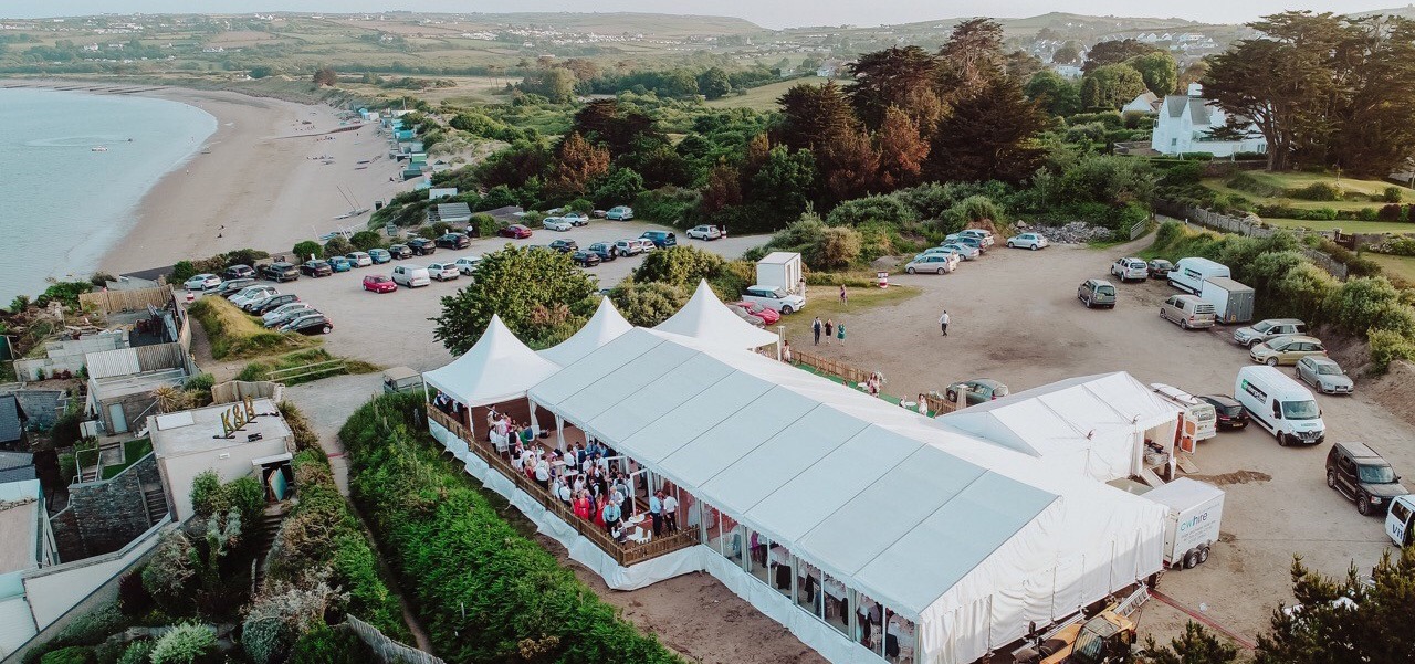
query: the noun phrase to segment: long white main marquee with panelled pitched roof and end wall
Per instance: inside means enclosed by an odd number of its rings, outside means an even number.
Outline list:
[[[1160,568],[1163,507],[756,353],[633,329],[529,397],[913,620],[918,661],[972,661]],[[692,571],[666,558],[644,565]],[[713,559],[826,657],[867,661]]]

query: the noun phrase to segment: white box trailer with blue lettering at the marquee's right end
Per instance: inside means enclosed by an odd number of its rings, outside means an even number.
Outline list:
[[[1191,569],[1208,559],[1208,548],[1218,541],[1218,521],[1224,514],[1224,492],[1189,478],[1179,478],[1143,493],[1165,507],[1165,567]]]

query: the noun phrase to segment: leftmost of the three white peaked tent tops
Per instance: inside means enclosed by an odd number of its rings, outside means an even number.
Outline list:
[[[423,374],[427,384],[467,405],[498,404],[525,396],[560,367],[531,350],[492,315],[481,339],[450,364]]]

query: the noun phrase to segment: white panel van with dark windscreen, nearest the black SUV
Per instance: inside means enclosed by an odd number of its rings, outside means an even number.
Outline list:
[[[1302,383],[1271,366],[1238,370],[1234,398],[1252,421],[1278,438],[1279,445],[1317,445],[1326,439],[1326,424],[1317,400]]]

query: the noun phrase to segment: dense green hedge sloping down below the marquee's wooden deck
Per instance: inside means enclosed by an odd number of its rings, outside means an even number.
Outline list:
[[[679,663],[522,535],[440,459],[420,396],[374,398],[340,438],[389,564],[450,663]]]

